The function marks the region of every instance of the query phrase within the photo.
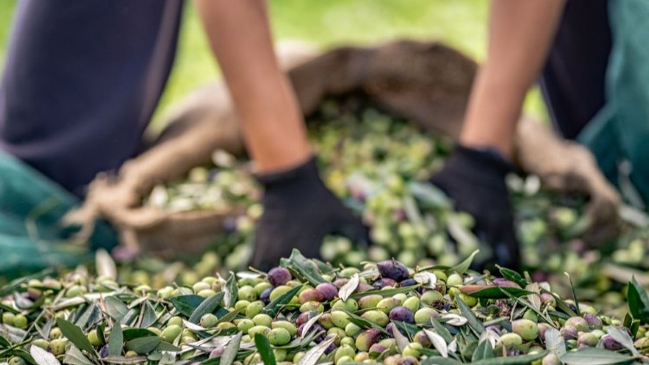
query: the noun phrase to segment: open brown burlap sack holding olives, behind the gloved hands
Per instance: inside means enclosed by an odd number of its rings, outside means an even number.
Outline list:
[[[296,49],[298,51],[296,51]],[[437,42],[393,42],[376,47],[338,47],[310,57],[304,47],[284,48],[280,60],[304,114],[324,97],[362,95],[374,106],[456,138],[477,65]],[[297,64],[296,64],[297,62]],[[219,221],[231,212],[165,212],[140,207],[156,183],[182,177],[205,164],[215,149],[239,154],[243,144],[222,82],[197,90],[169,116],[169,128],[157,144],[125,163],[116,177],[100,175],[84,206],[69,220],[104,217],[131,247],[165,252],[199,251],[218,234]],[[589,214],[606,234],[615,234],[617,192],[580,145],[560,140],[532,120],[517,131],[520,167],[557,190],[591,196]],[[600,235],[600,233],[598,233]],[[601,238],[601,236],[600,236]]]

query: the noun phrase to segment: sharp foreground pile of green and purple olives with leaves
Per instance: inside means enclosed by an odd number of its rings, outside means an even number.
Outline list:
[[[0,288],[0,364],[649,363],[649,299],[637,283],[622,321],[515,271],[470,271],[473,256],[359,269],[293,251],[268,273],[160,290],[117,283],[110,270],[36,275]]]

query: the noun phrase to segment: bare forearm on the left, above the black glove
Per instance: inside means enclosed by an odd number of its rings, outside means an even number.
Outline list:
[[[263,0],[196,0],[258,172],[305,162],[312,150],[293,90],[276,62]]]

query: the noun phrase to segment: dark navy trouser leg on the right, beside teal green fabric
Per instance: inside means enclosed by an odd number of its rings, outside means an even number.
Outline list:
[[[541,76],[556,129],[574,139],[606,103],[611,52],[607,0],[569,0]]]

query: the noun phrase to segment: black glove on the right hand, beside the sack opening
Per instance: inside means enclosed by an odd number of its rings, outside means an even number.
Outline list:
[[[515,269],[520,251],[505,185],[509,171],[511,165],[495,150],[458,145],[431,182],[454,200],[456,210],[473,216],[474,231],[493,249],[495,263]]]

